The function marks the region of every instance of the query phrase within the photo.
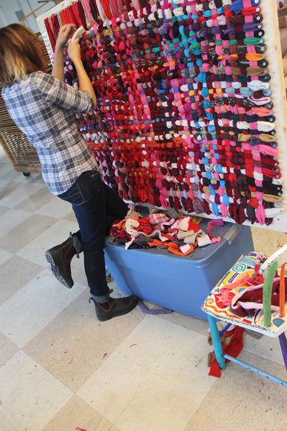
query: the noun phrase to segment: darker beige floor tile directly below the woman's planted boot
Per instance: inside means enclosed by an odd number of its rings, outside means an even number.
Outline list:
[[[85,317],[75,316],[74,324],[55,318],[23,347],[27,354],[73,392],[90,379],[118,344],[116,337],[106,336],[106,327],[96,325],[98,331],[95,335],[92,331],[94,319],[85,319],[87,329],[90,327],[94,336],[88,331],[80,331],[77,319]]]

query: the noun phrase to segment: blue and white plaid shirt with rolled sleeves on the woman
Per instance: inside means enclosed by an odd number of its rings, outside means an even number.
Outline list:
[[[88,92],[36,72],[3,87],[2,97],[14,123],[37,149],[43,180],[54,195],[70,189],[84,171],[99,170],[76,117],[93,109]]]

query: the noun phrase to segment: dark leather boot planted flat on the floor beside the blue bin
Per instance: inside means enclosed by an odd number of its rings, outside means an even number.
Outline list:
[[[112,293],[112,289],[110,289],[109,294],[110,293]],[[89,299],[89,303],[91,300],[95,304],[97,318],[101,322],[131,312],[139,302],[135,295],[126,296],[124,298],[109,298],[108,302],[104,304],[97,303],[92,297]]]

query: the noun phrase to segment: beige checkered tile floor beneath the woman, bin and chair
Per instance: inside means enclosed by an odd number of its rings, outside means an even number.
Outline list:
[[[205,320],[137,307],[99,323],[83,260],[73,260],[68,290],[44,258],[75,229],[70,205],[1,150],[1,431],[286,430],[286,388],[231,363],[208,376]],[[253,238],[269,253],[287,240],[258,228]],[[277,341],[266,351],[264,341],[245,336],[241,358],[284,378]]]

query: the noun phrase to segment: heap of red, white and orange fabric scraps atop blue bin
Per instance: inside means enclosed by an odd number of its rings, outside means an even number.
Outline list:
[[[178,215],[170,218],[166,213],[152,213],[147,217],[132,215],[119,220],[110,229],[110,243],[125,243],[126,249],[163,247],[178,256],[187,256],[195,247],[219,243],[221,238],[212,238],[215,226],[223,226],[223,220],[211,220],[208,233],[199,227],[199,217]]]

